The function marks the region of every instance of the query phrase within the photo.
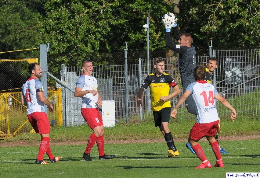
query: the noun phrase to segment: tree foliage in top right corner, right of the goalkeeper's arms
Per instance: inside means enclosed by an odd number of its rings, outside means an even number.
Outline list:
[[[193,32],[198,48],[210,40],[217,48],[260,47],[257,0],[182,0],[179,8],[182,24]]]

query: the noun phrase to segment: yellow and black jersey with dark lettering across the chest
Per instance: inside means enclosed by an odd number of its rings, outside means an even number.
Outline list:
[[[146,77],[142,87],[146,89],[149,85],[151,90],[152,110],[159,111],[162,108],[171,107],[170,100],[163,102],[160,100],[160,97],[168,96],[170,86],[175,87],[177,85],[172,76],[163,72],[160,77],[157,77],[155,73],[152,73]]]

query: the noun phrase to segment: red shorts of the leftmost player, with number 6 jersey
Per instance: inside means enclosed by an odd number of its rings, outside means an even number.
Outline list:
[[[47,114],[45,112],[34,112],[27,115],[27,117],[34,131],[37,134],[50,133],[50,123]]]

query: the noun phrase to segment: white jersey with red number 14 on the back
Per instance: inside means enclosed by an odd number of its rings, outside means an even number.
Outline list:
[[[191,91],[197,112],[197,123],[204,124],[218,120],[218,112],[215,107],[214,96],[218,91],[206,81],[196,81],[187,86]]]

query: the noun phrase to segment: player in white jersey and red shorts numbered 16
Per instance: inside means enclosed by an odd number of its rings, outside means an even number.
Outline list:
[[[104,152],[104,126],[102,116],[98,110],[102,106],[102,98],[98,92],[98,82],[92,76],[93,64],[89,59],[82,61],[83,74],[78,78],[74,96],[82,98],[81,114],[93,133],[88,138],[88,144],[83,158],[92,161],[90,151],[95,142],[98,146],[99,160],[112,159],[115,155],[106,155]]]

